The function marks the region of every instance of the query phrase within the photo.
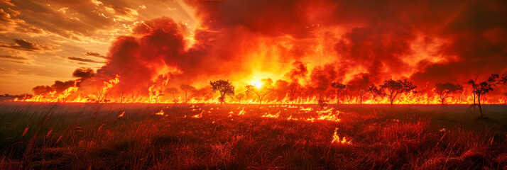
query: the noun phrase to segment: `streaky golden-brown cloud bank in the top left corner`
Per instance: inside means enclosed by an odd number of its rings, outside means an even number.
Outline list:
[[[11,1],[9,10],[0,11],[0,23],[9,22],[9,27],[0,26],[0,31],[9,33],[44,34],[53,33],[75,41],[99,39],[99,30],[123,28],[114,21],[116,15],[135,20],[135,12],[127,7],[115,7],[117,13],[110,13],[100,1]],[[7,6],[0,4],[1,8]],[[113,11],[115,11],[113,9]],[[6,15],[9,14],[9,15]],[[131,23],[129,23],[131,24]]]

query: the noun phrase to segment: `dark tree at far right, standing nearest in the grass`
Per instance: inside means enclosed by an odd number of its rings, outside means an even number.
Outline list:
[[[507,75],[503,75],[502,77],[498,76],[498,74],[491,74],[486,80],[479,80],[479,74],[475,74],[474,79],[469,79],[469,81],[465,82],[472,88],[472,94],[474,94],[474,104],[471,106],[479,106],[479,111],[481,112],[481,118],[484,118],[484,114],[482,113],[481,107],[481,96],[485,94],[489,94],[489,92],[493,91],[493,87],[497,84],[505,85],[507,82]],[[477,98],[477,103],[475,103],[475,98]]]

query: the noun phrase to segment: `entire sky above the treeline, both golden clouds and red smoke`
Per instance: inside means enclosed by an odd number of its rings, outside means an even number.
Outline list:
[[[505,16],[506,1],[479,0],[0,0],[0,93],[80,67],[97,72],[87,86],[118,74],[126,91],[160,77],[462,84],[507,72]]]

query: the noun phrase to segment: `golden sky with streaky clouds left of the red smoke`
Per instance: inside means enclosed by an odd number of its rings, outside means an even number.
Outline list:
[[[74,79],[78,67],[98,69],[111,42],[143,21],[168,16],[196,26],[182,1],[0,1],[0,93]]]

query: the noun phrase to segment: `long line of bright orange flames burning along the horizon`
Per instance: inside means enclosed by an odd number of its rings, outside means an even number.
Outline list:
[[[62,102],[62,103],[175,103],[180,100],[173,100],[172,96],[164,95],[163,91],[165,87],[168,85],[169,79],[164,79],[163,81],[158,82],[158,84],[152,84],[147,89],[147,94],[116,94],[114,92],[114,88],[117,84],[120,83],[119,75],[114,75],[113,78],[102,81],[102,86],[97,89],[97,91],[84,91],[77,86],[79,81],[75,81],[74,86],[70,86],[64,91],[58,93],[57,91],[50,91],[45,94],[39,94],[35,96],[26,96],[23,98],[14,98],[13,101],[31,101],[31,102]],[[263,81],[258,79],[251,81],[251,84],[256,88],[261,88],[265,86]],[[241,89],[236,92],[237,94],[244,92],[244,89]],[[289,92],[288,92],[289,93]],[[291,98],[289,94],[285,94],[285,96],[268,96],[263,98],[263,104],[283,104],[282,106],[285,108],[300,108],[300,111],[313,111],[311,107],[303,107],[303,106],[295,106],[295,104],[317,104],[319,103],[319,94],[313,93],[308,95],[304,92],[299,91],[300,96],[295,98]],[[180,94],[182,95],[182,94]],[[333,96],[335,94],[328,94],[327,97],[328,103],[338,103],[337,98]],[[210,96],[213,96],[212,94]],[[177,96],[180,98],[181,96]],[[376,96],[372,98],[371,96],[366,96],[362,98],[362,104],[389,104],[388,96]],[[481,96],[481,103],[484,104],[494,104],[501,103],[502,101],[490,101],[488,100],[488,96]],[[340,97],[341,104],[356,104],[359,103],[360,98],[358,96],[352,96],[350,94],[343,95]],[[220,103],[217,96],[209,97],[209,98],[197,98],[190,97],[187,103]],[[230,99],[227,103],[239,103],[237,100]],[[258,98],[254,95],[246,96],[241,104],[256,104],[259,103]],[[427,92],[418,92],[418,93],[404,93],[398,94],[396,99],[393,102],[394,104],[441,104],[440,98],[438,95],[432,94],[432,91]],[[474,103],[474,97],[470,91],[464,91],[461,94],[451,94],[448,98],[446,98],[445,103],[447,104],[471,104]],[[277,106],[278,107],[278,106]],[[191,108],[197,108],[197,106],[191,106]],[[218,108],[212,108],[218,109]],[[212,110],[210,109],[210,111]],[[331,110],[329,110],[331,111]],[[320,111],[320,113],[329,112],[329,111]]]

